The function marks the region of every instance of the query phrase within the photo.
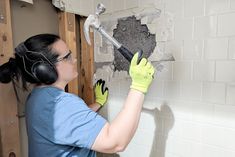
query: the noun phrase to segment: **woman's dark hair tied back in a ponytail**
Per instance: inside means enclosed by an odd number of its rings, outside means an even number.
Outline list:
[[[46,57],[51,63],[56,62],[59,55],[52,49],[52,44],[59,39],[60,37],[54,34],[39,34],[19,44],[15,48],[15,57],[11,57],[7,63],[0,66],[0,82],[9,83],[12,81],[15,88],[15,81],[19,81],[21,78],[24,90],[27,90],[27,82],[40,84],[41,82],[30,74],[30,69],[40,56]]]

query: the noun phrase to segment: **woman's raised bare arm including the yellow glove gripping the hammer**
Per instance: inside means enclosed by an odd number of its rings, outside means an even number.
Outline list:
[[[138,64],[138,54],[135,54],[129,74],[132,83],[124,106],[117,117],[102,128],[92,146],[93,150],[105,153],[123,151],[134,136],[144,94],[153,80],[154,68],[145,58]]]

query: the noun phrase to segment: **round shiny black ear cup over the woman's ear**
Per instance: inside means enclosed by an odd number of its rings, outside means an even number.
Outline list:
[[[56,69],[44,61],[34,63],[31,71],[35,78],[41,83],[52,84],[58,78]]]

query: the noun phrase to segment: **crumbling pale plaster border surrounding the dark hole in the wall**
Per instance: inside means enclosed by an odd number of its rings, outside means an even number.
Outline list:
[[[141,24],[146,24],[150,33],[156,35],[157,44],[148,59],[152,61],[157,71],[168,71],[169,67],[171,69],[171,63],[160,60],[164,60],[164,57],[171,55],[165,53],[165,42],[172,40],[174,37],[173,15],[170,13],[162,14],[161,10],[155,7],[134,8],[101,15],[101,25],[108,34],[113,36],[113,30],[117,27],[118,19],[129,16],[135,16],[137,20],[141,20]],[[122,41],[119,42],[121,43]],[[107,82],[111,79],[116,79],[116,77],[118,79],[129,78],[127,71],[114,71],[114,47],[96,31],[94,31],[94,50],[95,63],[99,64],[94,75],[94,82],[99,78],[103,78]]]

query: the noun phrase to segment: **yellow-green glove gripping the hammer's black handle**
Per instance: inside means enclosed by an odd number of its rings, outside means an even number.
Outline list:
[[[138,53],[136,53],[131,60],[129,69],[132,79],[130,88],[146,93],[153,80],[154,71],[154,67],[146,58],[142,58],[138,63]]]

